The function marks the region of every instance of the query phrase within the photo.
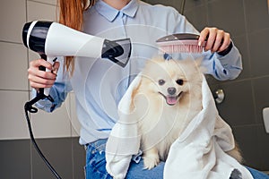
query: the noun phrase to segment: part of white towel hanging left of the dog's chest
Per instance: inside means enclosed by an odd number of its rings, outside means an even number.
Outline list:
[[[130,121],[129,117],[134,111],[131,107],[132,91],[137,88],[141,81],[139,73],[126,90],[125,95],[118,104],[119,119],[114,125],[106,145],[107,171],[115,179],[123,179],[126,176],[131,158],[138,154],[140,136],[137,132],[137,122]]]

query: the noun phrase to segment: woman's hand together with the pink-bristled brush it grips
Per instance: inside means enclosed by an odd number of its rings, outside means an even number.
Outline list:
[[[202,53],[211,50],[220,55],[230,52],[230,34],[217,28],[204,28],[200,35],[177,33],[159,38],[157,44],[161,53]]]

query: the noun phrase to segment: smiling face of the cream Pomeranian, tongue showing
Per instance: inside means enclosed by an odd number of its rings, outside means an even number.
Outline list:
[[[169,106],[178,104],[195,83],[201,82],[197,81],[197,66],[191,60],[153,59],[146,64],[143,75],[147,78],[148,90]]]

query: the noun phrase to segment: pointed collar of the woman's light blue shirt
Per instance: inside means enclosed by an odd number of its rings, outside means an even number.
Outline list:
[[[100,13],[100,15],[107,18],[108,21],[114,21],[117,18],[117,14],[120,12],[133,18],[135,13],[137,12],[137,9],[138,9],[138,2],[137,2],[137,0],[131,0],[128,4],[126,4],[126,6],[123,9],[117,10],[117,9],[109,6],[108,4],[103,2],[102,0],[99,0],[96,2],[94,7],[95,7],[96,11],[98,13]]]

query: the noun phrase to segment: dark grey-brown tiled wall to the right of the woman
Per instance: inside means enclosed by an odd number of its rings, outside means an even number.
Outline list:
[[[182,0],[147,0],[180,11]],[[222,89],[220,115],[232,127],[247,166],[269,170],[269,134],[262,110],[269,107],[269,13],[266,0],[186,0],[185,15],[198,30],[205,26],[230,32],[243,58],[244,70],[235,81],[209,78],[212,90]]]

